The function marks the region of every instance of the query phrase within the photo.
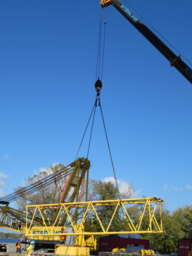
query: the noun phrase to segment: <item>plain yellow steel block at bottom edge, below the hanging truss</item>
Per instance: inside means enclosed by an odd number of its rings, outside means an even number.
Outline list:
[[[56,244],[54,254],[59,255],[90,255],[89,247]]]

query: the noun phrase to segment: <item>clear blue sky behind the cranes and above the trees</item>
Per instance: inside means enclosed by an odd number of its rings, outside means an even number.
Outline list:
[[[190,0],[129,4],[192,62]],[[74,161],[96,95],[99,18],[96,0],[0,2],[1,195]],[[117,178],[169,210],[190,205],[192,86],[113,6],[106,26],[100,98]],[[90,178],[113,177],[99,108],[89,158]]]

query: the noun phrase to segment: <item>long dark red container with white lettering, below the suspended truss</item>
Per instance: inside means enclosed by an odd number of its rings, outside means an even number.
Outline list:
[[[135,244],[144,247],[145,250],[149,249],[149,240],[147,239],[133,239],[123,237],[100,237],[99,251],[111,252],[114,248],[133,247]]]

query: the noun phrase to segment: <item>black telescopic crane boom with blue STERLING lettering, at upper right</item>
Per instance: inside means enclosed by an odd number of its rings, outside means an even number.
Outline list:
[[[156,49],[161,52],[164,57],[171,62],[171,67],[175,67],[191,84],[192,70],[180,58],[180,55],[175,55],[169,47],[167,47],[138,17],[136,17],[121,1],[119,0],[102,0],[102,7],[112,4],[131,24],[145,36],[148,41],[153,44]]]

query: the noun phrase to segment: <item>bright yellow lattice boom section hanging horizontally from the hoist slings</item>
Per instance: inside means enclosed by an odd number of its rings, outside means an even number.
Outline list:
[[[54,228],[58,228],[58,225],[56,226],[56,223],[60,222],[59,219],[61,218],[61,212],[62,215],[66,215],[68,217],[68,223],[70,223],[70,226],[73,227],[74,233],[68,233],[67,235],[113,235],[113,234],[146,234],[146,233],[165,233],[163,231],[162,227],[162,214],[161,214],[161,203],[163,201],[161,199],[153,198],[153,197],[147,197],[147,198],[136,198],[136,199],[116,199],[116,200],[107,200],[107,201],[92,201],[92,202],[70,202],[70,203],[62,203],[60,205],[58,204],[51,204],[51,205],[27,205],[27,209],[33,207],[34,214],[40,214],[42,219],[46,218],[46,214],[42,214],[42,212],[50,211],[50,210],[55,210],[58,209],[59,214],[55,218],[55,221],[52,223],[52,226],[47,226],[47,221],[46,219],[43,220],[44,228],[46,230],[46,234],[43,236],[58,236],[58,234],[55,234],[55,231],[53,230]],[[129,212],[126,209],[126,206],[130,206],[132,204],[143,204],[143,211],[140,214],[139,221],[138,223],[135,223],[134,220],[131,219]],[[154,207],[152,206],[154,204]],[[111,213],[111,219],[107,223],[107,227],[105,228],[102,224],[101,219],[99,218],[99,215],[97,213],[97,209],[99,206],[105,207],[108,205],[113,205],[114,210],[113,213]],[[158,211],[156,211],[156,206],[159,205]],[[85,212],[82,218],[82,221],[79,221],[78,225],[75,225],[75,222],[73,218],[71,218],[70,215],[70,209],[75,209],[85,207]],[[122,219],[124,218],[127,223],[127,227],[130,227],[130,231],[109,231],[110,227],[112,225],[113,218],[115,214],[117,213],[118,210],[121,210],[122,214],[121,217]],[[99,225],[102,229],[101,232],[87,232],[84,229],[85,222],[87,219],[87,215],[89,212],[92,212],[94,214],[94,218],[98,220]],[[144,215],[148,217],[148,228],[147,230],[142,229],[142,220]],[[158,220],[156,218],[156,215],[158,215]],[[146,218],[146,217],[145,217]],[[35,217],[33,217],[31,221],[31,226],[33,225],[33,221],[35,220]],[[58,220],[58,221],[57,221]],[[33,229],[27,230],[27,236],[33,234]],[[37,236],[42,236],[42,234],[36,234]]]

